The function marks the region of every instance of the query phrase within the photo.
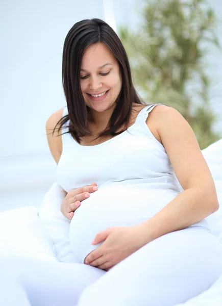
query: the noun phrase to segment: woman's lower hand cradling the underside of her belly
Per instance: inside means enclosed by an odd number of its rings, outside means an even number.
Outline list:
[[[95,236],[92,244],[104,242],[88,254],[84,263],[108,271],[145,245],[146,236],[139,225],[108,228]]]

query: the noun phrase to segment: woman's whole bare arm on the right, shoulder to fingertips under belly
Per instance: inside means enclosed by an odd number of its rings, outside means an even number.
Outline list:
[[[151,118],[153,122],[159,122],[155,133],[158,132],[184,191],[139,225],[108,228],[98,233],[92,244],[103,243],[88,254],[86,264],[109,270],[141,246],[182,230],[218,209],[212,175],[188,122],[178,111],[167,106],[156,106],[148,118],[149,122]]]

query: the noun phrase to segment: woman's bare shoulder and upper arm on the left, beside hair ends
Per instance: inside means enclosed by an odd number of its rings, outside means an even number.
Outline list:
[[[50,148],[51,154],[58,164],[61,154],[62,154],[62,137],[59,136],[58,130],[53,130],[58,123],[58,121],[63,117],[63,109],[53,113],[46,121],[45,129],[47,133],[48,146]],[[57,126],[58,127],[58,126]]]

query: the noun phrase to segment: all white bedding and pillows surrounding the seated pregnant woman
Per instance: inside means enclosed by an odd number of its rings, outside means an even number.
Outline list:
[[[222,243],[222,139],[202,152],[213,175],[220,203],[219,210],[207,219]],[[35,207],[24,207],[0,213],[0,257],[13,255],[76,262],[69,243],[70,221],[60,211],[63,197],[64,191],[56,182],[46,193],[39,211]],[[222,276],[201,295],[175,306],[182,305],[222,305]]]

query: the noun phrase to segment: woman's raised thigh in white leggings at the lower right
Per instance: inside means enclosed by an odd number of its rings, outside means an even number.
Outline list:
[[[204,227],[146,244],[82,293],[78,306],[172,306],[208,289],[222,274],[222,246]]]

